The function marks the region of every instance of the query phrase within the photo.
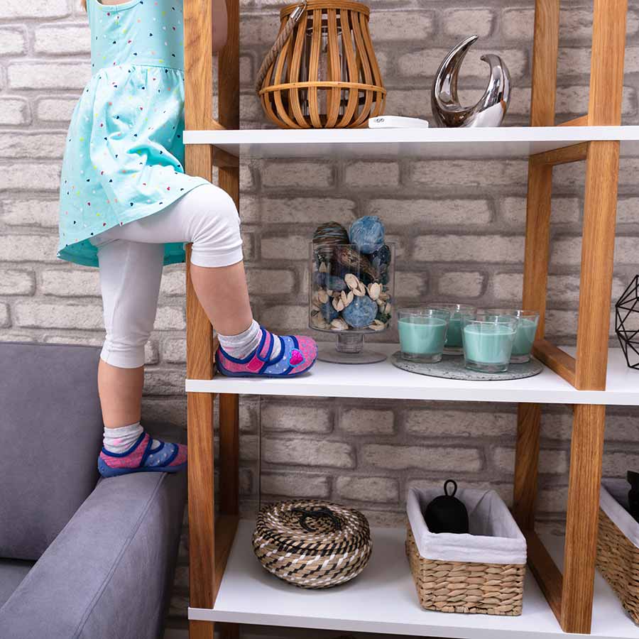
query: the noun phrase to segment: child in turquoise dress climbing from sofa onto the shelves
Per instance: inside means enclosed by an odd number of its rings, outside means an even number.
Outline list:
[[[98,370],[98,467],[103,476],[175,472],[186,465],[186,447],[144,432],[141,398],[162,268],[184,261],[186,242],[193,243],[195,293],[219,335],[220,372],[299,375],[314,364],[317,345],[253,320],[235,204],[184,173],[182,0],[82,1],[94,75],[67,136],[58,257],[100,271],[107,337]],[[226,11],[224,0],[213,1],[221,48]]]

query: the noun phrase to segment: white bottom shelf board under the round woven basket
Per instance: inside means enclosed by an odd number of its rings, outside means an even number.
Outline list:
[[[320,591],[290,586],[266,572],[253,555],[252,532],[253,522],[240,522],[215,607],[189,608],[190,619],[459,639],[584,636],[562,632],[529,570],[521,616],[423,610],[404,553],[403,528],[373,529],[373,556],[364,572],[348,584]],[[561,538],[545,538],[545,542],[553,555],[561,555]],[[639,639],[639,628],[599,574],[595,581],[592,636]]]

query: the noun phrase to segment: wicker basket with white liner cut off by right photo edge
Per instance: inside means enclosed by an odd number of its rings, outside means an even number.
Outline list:
[[[628,513],[628,483],[604,479],[599,501],[597,568],[639,623],[639,523]]]

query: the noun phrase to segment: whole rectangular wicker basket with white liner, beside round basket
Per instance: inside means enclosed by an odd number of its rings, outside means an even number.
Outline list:
[[[460,489],[473,534],[434,535],[422,512],[440,494],[441,488],[408,493],[406,554],[422,608],[520,615],[526,542],[506,504],[495,491]]]

